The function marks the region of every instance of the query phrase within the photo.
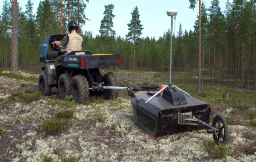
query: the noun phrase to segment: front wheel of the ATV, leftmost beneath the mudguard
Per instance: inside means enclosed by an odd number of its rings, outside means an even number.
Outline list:
[[[46,79],[46,71],[41,72],[38,79],[38,91],[42,92],[42,95],[50,95],[52,87],[48,85]]]

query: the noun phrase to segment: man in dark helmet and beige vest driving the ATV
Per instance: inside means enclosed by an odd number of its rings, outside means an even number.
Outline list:
[[[67,25],[69,34],[64,36],[64,38],[60,41],[54,41],[53,46],[66,46],[67,53],[71,51],[81,51],[83,46],[83,38],[77,34],[78,25],[74,20],[69,21]],[[66,53],[66,54],[67,54]],[[62,57],[58,56],[55,59],[56,65],[62,63]]]

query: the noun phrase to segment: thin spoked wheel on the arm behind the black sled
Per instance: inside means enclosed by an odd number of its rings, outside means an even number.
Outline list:
[[[227,143],[229,137],[229,130],[227,126],[227,121],[221,114],[216,114],[212,121],[212,126],[219,130],[218,135],[214,134],[213,138],[217,145],[219,143]]]

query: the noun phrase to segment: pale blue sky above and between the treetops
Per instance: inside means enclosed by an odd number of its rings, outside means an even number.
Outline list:
[[[0,0],[0,13],[2,13],[3,1]],[[33,13],[37,13],[37,7],[39,0],[31,0],[33,5]],[[221,11],[225,10],[226,0],[219,0]],[[27,0],[18,0],[22,11],[25,11],[25,5]],[[202,0],[205,3],[206,8],[211,5],[211,0]],[[231,0],[232,2],[232,0]],[[170,28],[170,17],[167,16],[166,11],[169,9],[175,9],[178,11],[176,16],[176,30],[173,31],[177,34],[179,30],[179,24],[181,23],[183,33],[185,29],[187,31],[194,30],[194,22],[196,21],[196,15],[198,15],[198,5],[191,10],[189,8],[189,0],[89,0],[85,14],[89,21],[86,21],[83,25],[83,31],[89,30],[92,35],[99,34],[100,21],[103,19],[104,5],[114,4],[113,13],[115,15],[113,19],[114,27],[117,35],[125,37],[128,33],[127,23],[131,21],[131,12],[135,6],[139,8],[140,20],[143,25],[141,37],[155,37],[158,39]],[[174,21],[173,21],[174,29]]]

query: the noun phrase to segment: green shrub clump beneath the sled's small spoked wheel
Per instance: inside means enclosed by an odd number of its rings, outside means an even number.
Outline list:
[[[203,141],[204,150],[208,152],[208,155],[214,159],[225,158],[227,155],[232,155],[229,145],[220,143],[216,146],[214,140]]]

